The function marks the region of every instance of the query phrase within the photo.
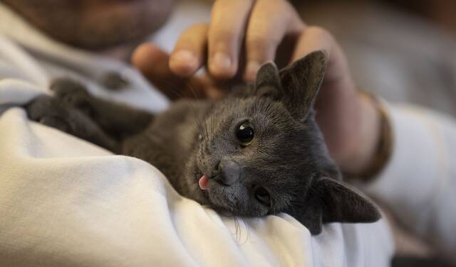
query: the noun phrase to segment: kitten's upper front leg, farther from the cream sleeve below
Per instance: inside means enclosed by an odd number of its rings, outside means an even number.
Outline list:
[[[105,133],[119,140],[140,133],[153,119],[147,111],[94,97],[74,80],[55,80],[51,90],[58,99],[90,116]]]

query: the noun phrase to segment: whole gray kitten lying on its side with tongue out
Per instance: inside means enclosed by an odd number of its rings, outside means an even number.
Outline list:
[[[149,114],[58,80],[28,116],[115,153],[155,165],[185,197],[222,214],[286,212],[311,234],[328,222],[375,222],[380,213],[341,175],[315,121],[326,69],[316,51],[280,72],[266,63],[255,85],[211,102],[180,100]]]

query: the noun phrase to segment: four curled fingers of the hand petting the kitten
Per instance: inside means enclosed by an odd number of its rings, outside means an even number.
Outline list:
[[[244,31],[247,23],[248,29]],[[277,47],[284,43],[282,40],[298,38],[303,28],[304,23],[287,1],[219,0],[212,8],[212,22],[187,28],[171,55],[145,43],[135,50],[132,61],[172,99],[176,98],[176,92],[170,92],[170,87],[182,95],[196,92],[198,97],[204,94],[215,97],[221,95],[220,82],[226,84],[235,75],[253,81],[260,65],[274,60]],[[244,47],[247,67],[241,57]],[[283,65],[291,57],[291,53],[286,54],[281,57]],[[195,72],[203,66],[207,67],[207,74],[195,77]],[[189,94],[189,91],[194,92]]]

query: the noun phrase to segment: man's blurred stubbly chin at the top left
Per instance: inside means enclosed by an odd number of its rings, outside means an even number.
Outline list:
[[[160,28],[173,0],[4,0],[33,26],[68,45],[101,50]]]

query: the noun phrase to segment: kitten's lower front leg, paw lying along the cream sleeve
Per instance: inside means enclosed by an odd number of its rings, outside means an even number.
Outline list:
[[[86,114],[54,97],[40,96],[26,104],[28,118],[65,131],[117,153],[120,144]]]

